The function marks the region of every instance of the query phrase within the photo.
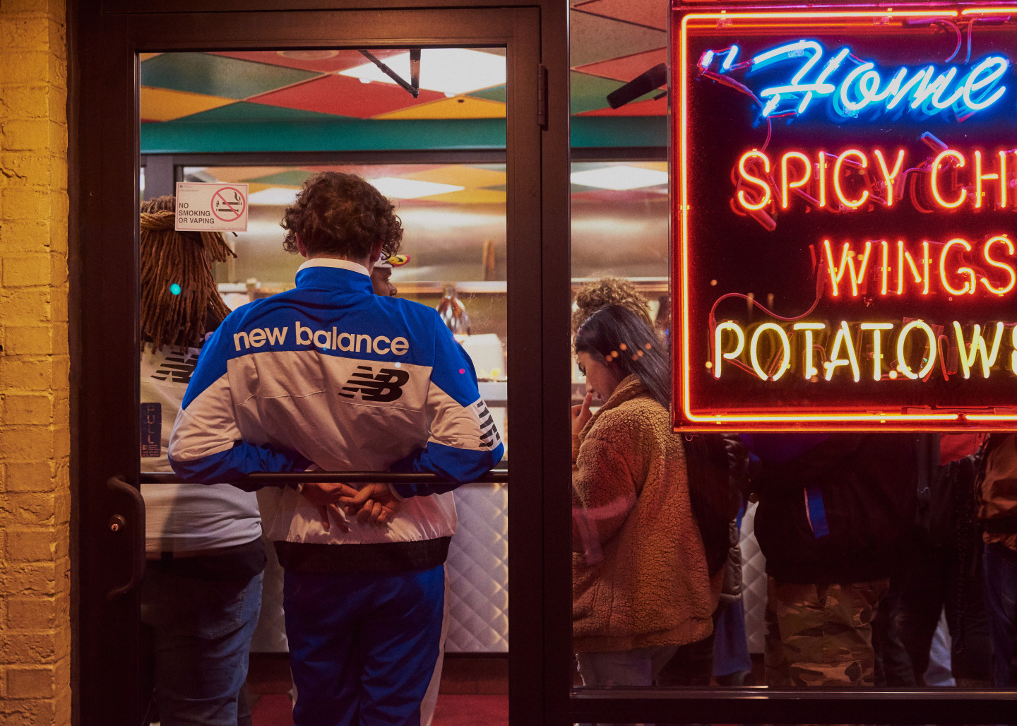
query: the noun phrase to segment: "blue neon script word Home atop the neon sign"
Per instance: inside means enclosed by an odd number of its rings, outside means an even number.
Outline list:
[[[707,75],[735,70],[752,75],[778,63],[795,69],[786,84],[770,85],[758,93],[764,118],[803,114],[815,99],[829,98],[843,117],[857,117],[869,110],[933,116],[952,109],[957,120],[963,121],[1003,98],[1007,87],[1000,80],[1010,67],[1009,59],[988,56],[970,66],[938,70],[926,65],[891,72],[858,58],[850,48],[841,48],[823,62],[823,46],[806,40],[772,48],[741,63],[735,62],[737,55],[738,46],[707,51],[698,65]],[[718,59],[720,63],[712,70]]]

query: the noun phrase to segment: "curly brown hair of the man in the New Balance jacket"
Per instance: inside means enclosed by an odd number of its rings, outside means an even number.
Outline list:
[[[296,201],[286,207],[280,227],[286,230],[283,249],[297,252],[299,236],[309,256],[360,259],[377,240],[395,254],[403,241],[395,205],[362,178],[342,172],[308,178]]]

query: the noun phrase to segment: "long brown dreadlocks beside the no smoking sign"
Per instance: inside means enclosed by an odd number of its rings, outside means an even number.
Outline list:
[[[141,202],[141,339],[143,347],[151,338],[155,350],[165,345],[196,348],[208,318],[222,320],[230,314],[212,263],[237,255],[219,232],[175,231],[175,211],[173,196]],[[177,294],[173,285],[179,286]]]

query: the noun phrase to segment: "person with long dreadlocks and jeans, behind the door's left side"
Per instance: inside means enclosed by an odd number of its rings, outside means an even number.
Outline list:
[[[175,199],[141,204],[141,470],[169,472],[173,421],[205,335],[230,312],[213,262],[215,232],[174,231]],[[235,255],[234,255],[235,256]],[[229,484],[141,484],[141,620],[152,636],[155,710],[164,726],[250,724],[241,695],[265,553],[251,492]]]

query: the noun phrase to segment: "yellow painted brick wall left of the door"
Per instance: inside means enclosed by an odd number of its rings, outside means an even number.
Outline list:
[[[70,723],[63,0],[0,0],[0,723]]]

